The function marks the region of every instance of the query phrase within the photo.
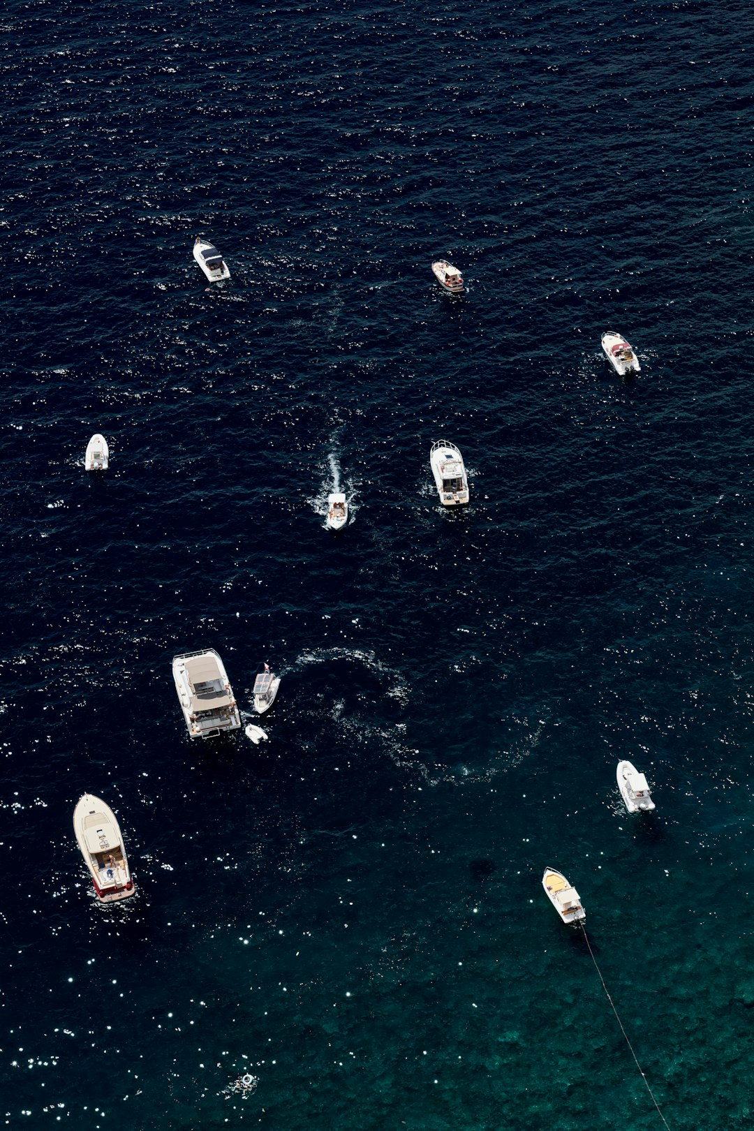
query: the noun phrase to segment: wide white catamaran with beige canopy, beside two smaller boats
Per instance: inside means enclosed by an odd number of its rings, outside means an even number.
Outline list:
[[[241,726],[225,665],[214,648],[174,656],[173,680],[191,739],[211,739]]]

